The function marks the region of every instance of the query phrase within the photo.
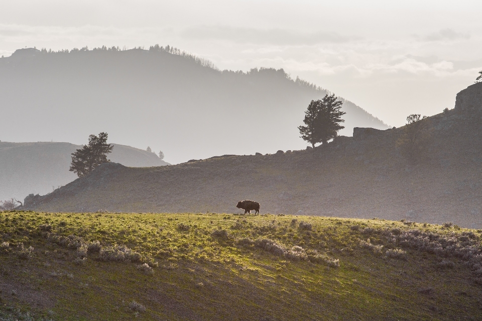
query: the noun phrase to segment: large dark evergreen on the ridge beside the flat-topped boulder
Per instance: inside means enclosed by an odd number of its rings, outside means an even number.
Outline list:
[[[345,128],[339,123],[345,120],[341,116],[345,112],[340,111],[342,102],[336,100],[335,94],[326,94],[323,99],[311,100],[305,112],[303,123],[306,126],[299,126],[301,138],[309,142],[312,147],[316,143],[326,144],[330,139],[338,135],[340,129]]]

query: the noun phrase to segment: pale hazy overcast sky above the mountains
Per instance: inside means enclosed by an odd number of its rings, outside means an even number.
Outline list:
[[[0,55],[169,44],[220,69],[284,68],[398,127],[473,83],[480,13],[480,0],[2,1]]]

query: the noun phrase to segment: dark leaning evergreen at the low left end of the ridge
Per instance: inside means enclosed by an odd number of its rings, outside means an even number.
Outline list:
[[[107,154],[112,152],[112,148],[112,145],[107,144],[107,133],[100,133],[99,136],[90,135],[89,144],[72,153],[69,171],[79,177],[90,174],[98,165],[110,162]]]

